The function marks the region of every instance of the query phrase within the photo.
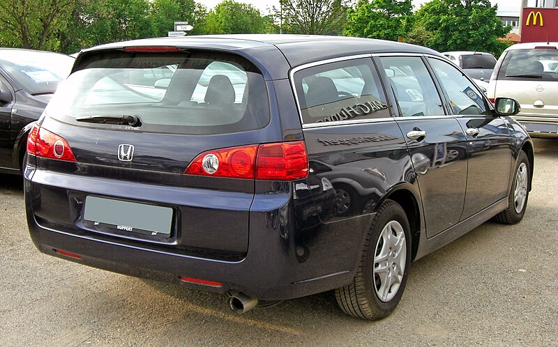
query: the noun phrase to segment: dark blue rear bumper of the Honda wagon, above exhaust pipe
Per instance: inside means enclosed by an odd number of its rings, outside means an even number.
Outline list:
[[[33,213],[29,178],[24,185],[29,233],[40,252],[125,275],[181,283],[203,291],[239,291],[260,300],[299,298],[349,284],[373,217],[302,230],[296,220],[304,207],[298,206],[299,201],[291,199],[287,206],[273,206],[273,199],[264,195],[262,201],[255,199],[250,211],[246,256],[239,261],[223,261],[52,227]],[[55,250],[78,254],[81,259]],[[190,284],[181,277],[220,282],[223,286]]]

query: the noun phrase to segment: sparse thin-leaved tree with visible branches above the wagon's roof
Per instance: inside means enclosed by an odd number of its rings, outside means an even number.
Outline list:
[[[273,8],[282,33],[340,35],[347,19],[345,0],[280,0]]]

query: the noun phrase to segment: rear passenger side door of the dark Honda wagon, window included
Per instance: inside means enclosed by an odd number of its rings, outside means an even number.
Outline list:
[[[447,114],[423,56],[379,56],[398,102],[430,238],[460,221],[467,187],[467,142]]]

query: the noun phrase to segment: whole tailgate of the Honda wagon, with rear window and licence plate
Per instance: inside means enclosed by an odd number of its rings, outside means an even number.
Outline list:
[[[33,130],[31,151],[45,152],[31,162],[35,218],[78,236],[243,256],[255,181],[234,148],[280,140],[266,129],[266,91],[262,73],[234,54],[132,47],[82,56]],[[234,165],[213,174],[227,155]]]

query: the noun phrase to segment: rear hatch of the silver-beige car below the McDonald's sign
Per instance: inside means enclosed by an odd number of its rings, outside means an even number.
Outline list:
[[[558,132],[558,50],[548,46],[508,51],[495,80],[495,98],[520,102],[518,118],[529,132]],[[534,121],[534,123],[529,123]]]

